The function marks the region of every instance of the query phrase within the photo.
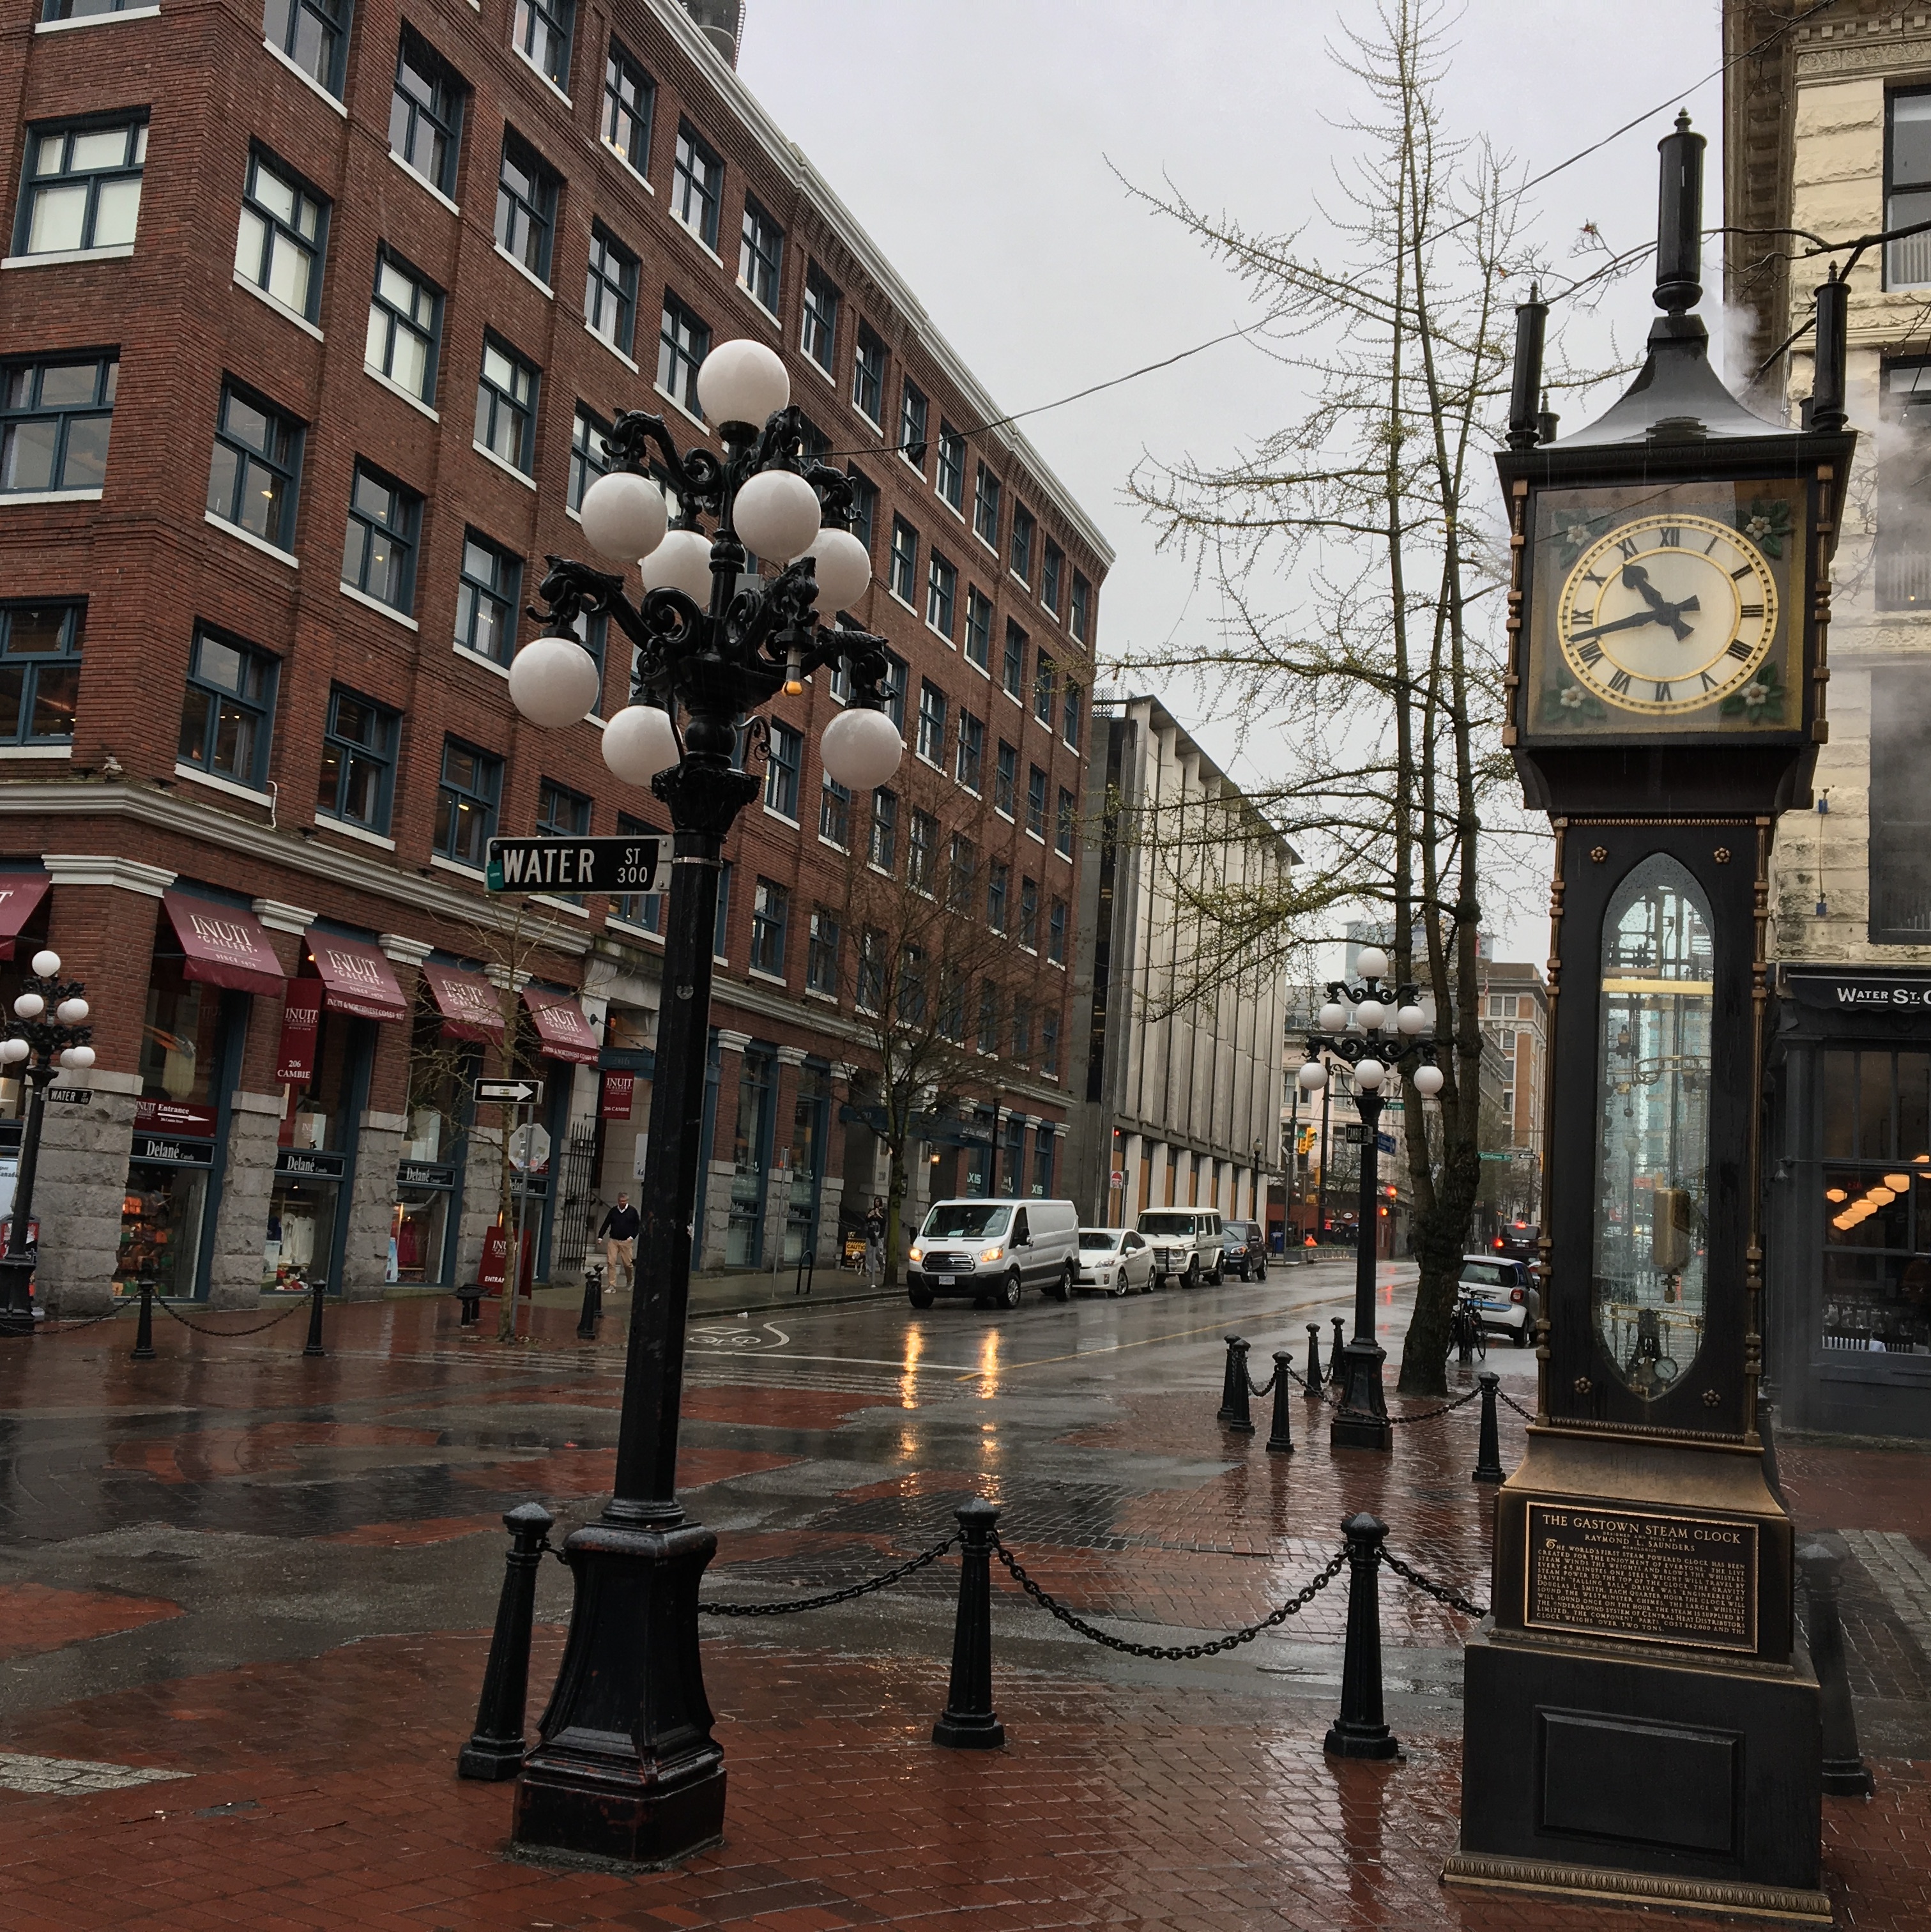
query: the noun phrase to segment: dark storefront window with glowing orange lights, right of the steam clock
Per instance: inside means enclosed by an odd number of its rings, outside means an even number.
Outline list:
[[[1931,1055],[1823,1055],[1819,1343],[1931,1354]]]

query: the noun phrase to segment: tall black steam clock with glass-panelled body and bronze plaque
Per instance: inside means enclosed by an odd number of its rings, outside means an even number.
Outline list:
[[[1547,440],[1518,311],[1508,744],[1556,838],[1537,1416],[1498,1493],[1444,1876],[1829,1920],[1817,1679],[1765,1418],[1771,837],[1825,738],[1854,437],[1842,284],[1807,427],[1707,357],[1703,137],[1661,143],[1628,394]]]

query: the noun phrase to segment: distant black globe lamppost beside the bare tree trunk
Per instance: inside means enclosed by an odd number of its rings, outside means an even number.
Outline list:
[[[1307,1036],[1307,1061],[1296,1076],[1309,1094],[1327,1086],[1327,1055],[1354,1070],[1354,1105],[1361,1115],[1361,1211],[1354,1254],[1354,1337],[1342,1349],[1340,1406],[1329,1439],[1336,1449],[1390,1449],[1394,1430],[1381,1393],[1381,1364],[1388,1352],[1375,1341],[1375,1246],[1381,1231],[1379,1148],[1381,1088],[1404,1061],[1419,1059],[1413,1082],[1423,1097],[1441,1094],[1442,1072],[1435,1065],[1435,1041],[1427,1036],[1427,1014],[1415,1005],[1415,989],[1404,985],[1390,1005],[1381,981],[1388,954],[1365,947],[1356,960],[1361,980],[1329,983],[1319,1028]]]

